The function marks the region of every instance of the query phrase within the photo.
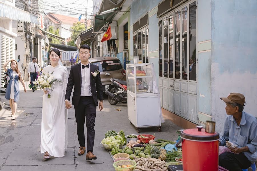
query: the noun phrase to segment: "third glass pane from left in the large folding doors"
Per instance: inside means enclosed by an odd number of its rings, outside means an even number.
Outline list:
[[[173,15],[171,15],[169,17],[169,58],[170,58],[170,62],[169,62],[169,65],[170,65],[170,73],[169,73],[169,78],[173,78],[173,65],[174,65],[174,31],[173,31]]]

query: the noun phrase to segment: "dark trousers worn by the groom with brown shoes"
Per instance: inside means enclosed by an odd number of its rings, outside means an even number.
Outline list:
[[[79,145],[85,146],[84,125],[87,126],[87,152],[93,151],[95,141],[96,105],[92,96],[81,96],[79,105],[74,106]]]

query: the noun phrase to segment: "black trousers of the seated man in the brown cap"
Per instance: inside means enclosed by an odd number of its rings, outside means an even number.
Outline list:
[[[248,169],[252,162],[242,152],[239,154],[225,152],[219,155],[219,165],[229,171],[242,171]]]

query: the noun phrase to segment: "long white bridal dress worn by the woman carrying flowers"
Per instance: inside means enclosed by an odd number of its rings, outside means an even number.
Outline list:
[[[68,82],[67,68],[60,64],[43,68],[42,73],[53,72],[54,79],[61,82],[52,84],[53,91],[43,95],[41,122],[41,153],[49,152],[50,156],[63,157],[68,146],[67,110],[65,108],[65,93]],[[51,88],[51,89],[52,89]]]

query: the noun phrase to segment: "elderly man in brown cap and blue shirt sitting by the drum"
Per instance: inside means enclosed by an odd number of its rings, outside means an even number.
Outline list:
[[[245,97],[240,93],[230,93],[221,98],[226,103],[226,121],[220,133],[219,144],[230,141],[237,147],[228,147],[232,152],[219,156],[219,165],[230,171],[247,169],[257,158],[257,119],[243,111]]]

